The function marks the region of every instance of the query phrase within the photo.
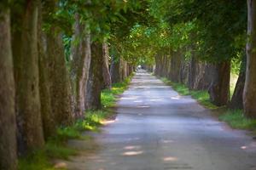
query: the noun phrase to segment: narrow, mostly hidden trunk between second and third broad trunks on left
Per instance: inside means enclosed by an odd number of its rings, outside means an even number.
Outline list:
[[[42,31],[42,4],[38,10],[38,58],[39,58],[39,90],[41,113],[44,127],[44,139],[55,134],[55,117],[52,113],[49,94],[49,65],[46,56],[46,36]]]

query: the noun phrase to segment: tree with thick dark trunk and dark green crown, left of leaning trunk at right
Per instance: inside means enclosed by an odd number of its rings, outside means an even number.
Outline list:
[[[204,2],[153,0],[152,3],[155,7],[166,11],[160,14],[158,11],[162,10],[154,10],[154,14],[163,15],[163,20],[168,21],[173,30],[180,23],[191,22],[195,25],[195,29],[190,31],[195,38],[189,43],[194,46],[193,51],[198,58],[215,65],[212,67],[214,77],[209,87],[210,98],[216,105],[226,105],[229,101],[230,79],[222,73],[230,71],[230,60],[236,56],[237,50],[234,44],[237,35],[241,35],[245,29],[246,4],[242,1],[210,0]],[[222,8],[219,8],[220,6]],[[182,35],[186,36],[183,33]],[[183,50],[188,51],[186,48]]]

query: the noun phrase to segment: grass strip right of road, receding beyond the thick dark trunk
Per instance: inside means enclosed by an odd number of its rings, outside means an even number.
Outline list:
[[[171,82],[167,78],[160,78],[162,82],[165,82],[167,85],[172,86],[174,90],[177,91],[180,95],[191,95],[192,98],[196,99],[201,105],[204,105],[208,109],[217,109],[218,106],[213,105],[210,101],[210,96],[206,90],[189,90],[189,88],[177,82]]]

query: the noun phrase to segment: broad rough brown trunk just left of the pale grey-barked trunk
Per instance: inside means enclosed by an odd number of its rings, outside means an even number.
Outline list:
[[[45,2],[43,19],[49,65],[51,108],[56,125],[63,126],[73,123],[73,115],[71,86],[62,42],[61,16],[55,15],[56,7],[55,1]]]

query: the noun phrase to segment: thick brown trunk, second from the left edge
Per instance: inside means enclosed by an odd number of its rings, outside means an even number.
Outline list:
[[[38,79],[38,1],[27,0],[24,5],[13,16],[20,23],[20,29],[13,27],[13,52],[21,152],[44,145]]]

